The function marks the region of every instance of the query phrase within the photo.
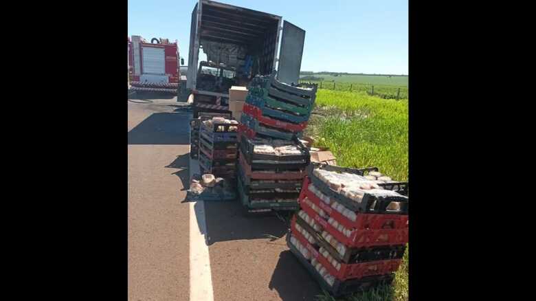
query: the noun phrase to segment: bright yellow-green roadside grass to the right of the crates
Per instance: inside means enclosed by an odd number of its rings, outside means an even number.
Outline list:
[[[376,166],[394,180],[407,181],[407,103],[407,99],[383,99],[365,92],[319,89],[305,135],[315,138],[315,146],[328,147],[339,166]],[[408,300],[408,250],[392,286],[342,300]],[[335,299],[326,295],[318,300]]]

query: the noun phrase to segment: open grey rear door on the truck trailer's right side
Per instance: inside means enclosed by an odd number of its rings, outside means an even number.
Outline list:
[[[304,41],[305,30],[290,22],[283,21],[277,76],[280,82],[298,84]]]

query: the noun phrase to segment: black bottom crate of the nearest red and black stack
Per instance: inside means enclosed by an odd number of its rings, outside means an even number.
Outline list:
[[[361,279],[350,279],[345,281],[335,279],[333,285],[328,285],[326,280],[324,280],[324,278],[318,274],[315,267],[311,265],[311,262],[304,258],[300,251],[298,251],[298,249],[292,245],[290,241],[291,236],[292,234],[290,232],[287,233],[287,245],[289,246],[292,254],[298,258],[298,261],[305,267],[307,271],[309,271],[309,274],[313,276],[320,287],[335,297],[367,291],[368,289],[378,287],[379,285],[390,285],[392,280],[394,280],[394,274],[388,274],[383,276],[368,276]]]

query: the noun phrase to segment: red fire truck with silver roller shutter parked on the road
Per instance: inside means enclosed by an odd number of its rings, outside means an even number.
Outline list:
[[[177,40],[152,38],[149,43],[142,36],[129,37],[131,90],[177,94],[180,76]]]

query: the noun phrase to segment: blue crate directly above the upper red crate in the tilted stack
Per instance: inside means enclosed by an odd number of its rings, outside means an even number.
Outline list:
[[[267,93],[263,93],[264,91],[266,90],[260,88],[250,89],[245,100],[246,103],[252,104],[259,108],[270,107],[272,109],[287,111],[301,116],[309,116],[311,114],[311,110],[313,109],[312,103],[296,104],[295,102],[287,102],[282,99],[267,96]]]

